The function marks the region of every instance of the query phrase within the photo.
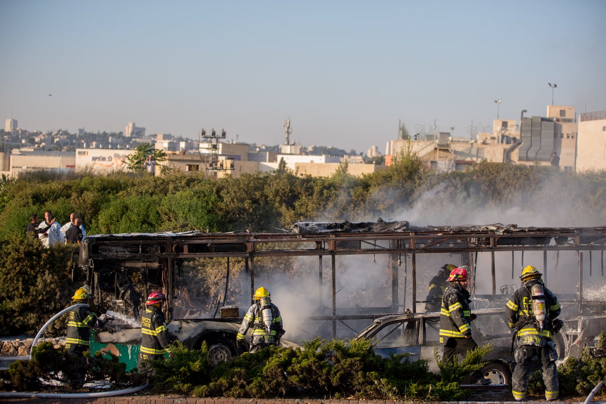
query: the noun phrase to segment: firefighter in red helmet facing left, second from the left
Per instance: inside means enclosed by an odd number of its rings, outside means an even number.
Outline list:
[[[168,357],[173,357],[162,312],[162,302],[165,301],[164,293],[151,292],[145,302],[145,313],[141,316],[141,349],[137,368],[146,376],[154,373],[150,363],[152,360],[162,359],[165,353],[168,353]]]

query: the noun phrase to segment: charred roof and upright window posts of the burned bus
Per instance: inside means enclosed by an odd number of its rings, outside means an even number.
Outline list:
[[[548,251],[575,251],[578,254],[578,288],[570,302],[578,306],[577,313],[584,313],[591,305],[584,299],[583,268],[589,253],[600,251],[599,267],[604,275],[604,250],[606,249],[605,227],[583,228],[519,228],[516,225],[477,225],[457,227],[411,227],[408,222],[369,222],[352,224],[325,224],[306,222],[295,224],[290,233],[153,233],[153,234],[101,234],[88,236],[82,242],[79,267],[87,274],[87,282],[95,286],[95,294],[102,300],[99,287],[100,274],[104,268],[115,268],[128,260],[137,265],[160,267],[167,280],[168,299],[172,290],[171,273],[178,259],[198,257],[241,257],[247,263],[250,276],[250,295],[255,290],[255,259],[258,257],[318,257],[318,287],[322,290],[324,258],[330,259],[331,314],[314,316],[311,320],[332,322],[333,336],[336,323],[348,319],[371,319],[401,310],[399,292],[399,267],[403,264],[405,274],[410,265],[411,298],[413,312],[419,299],[416,259],[419,254],[461,254],[462,261],[470,263],[475,276],[474,263],[479,253],[490,254],[491,296],[498,298],[496,288],[495,254],[501,251],[512,253],[511,270],[514,271],[513,254],[520,251],[542,251],[543,266],[539,268],[548,280]],[[369,313],[338,314],[336,306],[336,257],[359,254],[390,254],[391,306],[374,308]],[[404,257],[404,260],[402,260]],[[229,261],[228,261],[229,262]],[[534,263],[535,266],[536,263]],[[519,269],[519,268],[518,268]],[[591,269],[590,269],[591,270]],[[144,294],[147,290],[144,291]],[[405,292],[404,292],[405,293]],[[146,295],[147,296],[147,295]],[[322,293],[319,294],[322,296]],[[404,302],[406,300],[404,294]],[[323,302],[319,302],[323,304]],[[604,311],[603,302],[598,310]],[[167,313],[171,318],[170,310]]]

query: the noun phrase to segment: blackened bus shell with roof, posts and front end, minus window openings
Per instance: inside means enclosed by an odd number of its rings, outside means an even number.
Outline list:
[[[458,257],[462,263],[470,265],[474,278],[484,274],[490,279],[488,291],[472,297],[485,302],[483,308],[504,306],[504,290],[497,286],[497,274],[502,272],[496,265],[496,254],[511,254],[511,274],[514,268],[514,254],[533,251],[542,253],[542,262],[534,262],[544,273],[548,285],[553,274],[548,265],[547,254],[573,251],[578,257],[575,272],[577,286],[574,290],[558,294],[566,310],[565,320],[566,354],[580,355],[585,343],[606,328],[606,302],[604,299],[588,299],[584,296],[584,274],[601,271],[604,277],[604,250],[606,248],[606,228],[518,228],[516,225],[470,225],[459,227],[413,227],[408,222],[364,223],[317,223],[295,224],[289,233],[154,233],[154,234],[101,234],[85,237],[79,251],[79,268],[84,271],[85,282],[92,286],[95,297],[107,308],[121,305],[122,308],[139,316],[142,302],[150,290],[161,288],[168,299],[167,320],[173,324],[171,332],[191,348],[197,348],[202,341],[219,346],[231,355],[238,353],[235,348],[237,324],[241,321],[238,310],[222,310],[222,318],[191,319],[175,313],[175,302],[179,297],[173,294],[176,274],[181,271],[184,260],[199,258],[227,258],[245,260],[249,279],[250,297],[255,290],[255,259],[262,257],[316,257],[318,259],[317,285],[318,305],[323,310],[318,315],[305,318],[305,322],[330,324],[331,336],[341,337],[339,327],[348,321],[366,322],[389,314],[402,313],[404,306],[410,305],[412,313],[424,303],[422,290],[425,285],[418,279],[421,268],[419,257],[425,254],[448,254]],[[599,252],[601,260],[594,265],[593,253]],[[478,255],[488,257],[487,265],[478,265]],[[388,256],[391,269],[390,304],[362,307],[355,311],[338,307],[337,265],[338,257],[346,256]],[[542,264],[542,265],[541,265]],[[594,269],[593,267],[598,267]],[[570,268],[567,268],[570,272]],[[327,273],[330,279],[326,279]],[[402,273],[405,287],[402,288]],[[229,268],[225,282],[228,282]],[[326,284],[330,287],[330,302],[322,299]],[[135,287],[135,284],[138,287]],[[226,288],[227,290],[227,288]],[[409,295],[407,295],[409,293]],[[411,303],[409,303],[411,301]],[[228,303],[227,296],[222,303]],[[479,308],[479,307],[476,307]],[[192,326],[195,325],[195,326]],[[119,340],[118,328],[107,332],[107,339]],[[183,331],[187,329],[188,331]],[[353,332],[353,330],[352,330]],[[136,338],[136,336],[134,337]],[[121,337],[121,340],[128,337]],[[119,342],[119,341],[118,341]],[[221,351],[221,349],[219,349]]]

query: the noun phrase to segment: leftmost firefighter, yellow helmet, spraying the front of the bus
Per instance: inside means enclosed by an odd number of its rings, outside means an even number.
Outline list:
[[[88,285],[78,288],[72,300],[74,304],[86,303],[88,307],[79,306],[70,311],[65,349],[68,354],[82,356],[90,348],[90,328],[96,324],[97,318],[102,313],[96,307]]]

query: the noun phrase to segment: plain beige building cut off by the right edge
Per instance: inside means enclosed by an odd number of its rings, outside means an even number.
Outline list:
[[[576,171],[606,170],[606,111],[579,116]]]

